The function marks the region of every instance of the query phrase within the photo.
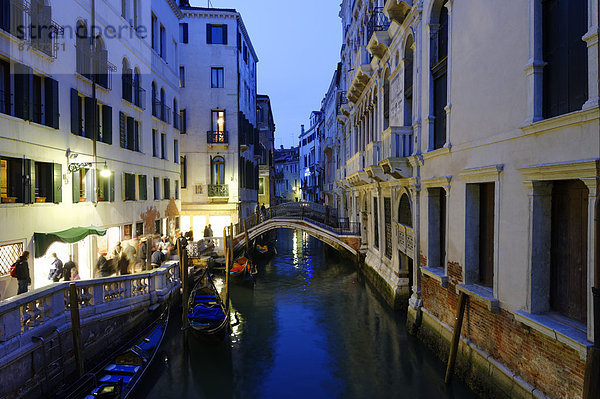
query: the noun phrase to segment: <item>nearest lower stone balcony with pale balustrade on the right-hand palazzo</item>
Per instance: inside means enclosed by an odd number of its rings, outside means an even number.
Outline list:
[[[383,172],[396,178],[412,177],[408,157],[413,152],[413,130],[410,126],[391,126],[383,134]]]

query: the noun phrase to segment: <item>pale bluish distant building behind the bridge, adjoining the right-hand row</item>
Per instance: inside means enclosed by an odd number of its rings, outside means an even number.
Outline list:
[[[313,111],[310,115],[310,128],[301,126],[299,137],[300,177],[302,179],[302,199],[304,201],[321,202],[321,145],[323,113]]]

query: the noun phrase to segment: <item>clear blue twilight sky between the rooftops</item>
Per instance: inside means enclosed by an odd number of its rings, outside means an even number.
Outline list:
[[[337,66],[341,0],[211,0],[235,8],[258,54],[258,93],[271,98],[275,147],[298,145],[300,125],[321,108]],[[206,7],[207,0],[190,4]]]

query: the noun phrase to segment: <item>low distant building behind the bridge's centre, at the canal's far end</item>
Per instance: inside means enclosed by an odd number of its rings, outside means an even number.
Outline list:
[[[275,150],[275,201],[299,201],[302,199],[298,147]]]

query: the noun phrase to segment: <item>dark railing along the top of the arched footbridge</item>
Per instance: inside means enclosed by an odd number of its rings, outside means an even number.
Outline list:
[[[251,229],[260,223],[276,218],[310,221],[336,235],[360,235],[360,223],[351,222],[348,218],[341,218],[338,216],[337,209],[314,202],[289,202],[272,206],[265,212],[253,213],[234,226],[235,234],[244,232],[244,222],[246,228]]]

